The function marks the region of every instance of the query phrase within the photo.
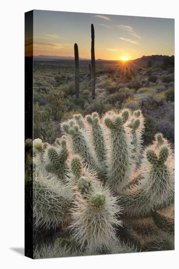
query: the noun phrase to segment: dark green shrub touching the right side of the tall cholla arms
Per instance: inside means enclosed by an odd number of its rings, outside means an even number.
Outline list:
[[[144,139],[147,143],[152,142],[152,140],[154,139],[154,135],[156,133],[156,121],[156,118],[150,117],[149,115],[145,115]]]

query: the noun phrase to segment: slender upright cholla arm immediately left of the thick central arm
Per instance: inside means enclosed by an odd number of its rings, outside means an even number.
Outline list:
[[[106,158],[106,147],[104,134],[101,128],[100,119],[97,113],[92,113],[86,117],[88,124],[91,126],[92,141],[98,161],[104,164]]]

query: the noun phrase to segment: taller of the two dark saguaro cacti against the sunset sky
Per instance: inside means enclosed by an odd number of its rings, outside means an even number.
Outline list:
[[[94,25],[91,24],[91,91],[92,99],[95,97],[95,56],[94,56]]]

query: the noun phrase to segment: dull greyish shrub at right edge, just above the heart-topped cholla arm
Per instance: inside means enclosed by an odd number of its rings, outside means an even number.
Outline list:
[[[165,135],[167,139],[174,141],[174,122],[166,119],[160,119],[156,123],[156,130],[159,133]]]

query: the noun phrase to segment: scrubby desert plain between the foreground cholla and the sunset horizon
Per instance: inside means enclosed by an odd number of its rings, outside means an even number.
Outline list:
[[[155,133],[162,132],[173,144],[174,67],[168,62],[166,65],[164,59],[162,65],[156,62],[154,67],[96,60],[94,99],[90,61],[78,62],[77,88],[74,61],[34,61],[34,105],[38,108],[34,110],[34,138],[54,142],[61,136],[59,121],[70,119],[73,113],[85,116],[98,112],[102,116],[111,109],[126,107],[140,109],[145,115],[144,143],[152,142]]]

